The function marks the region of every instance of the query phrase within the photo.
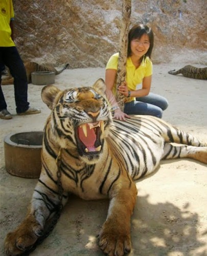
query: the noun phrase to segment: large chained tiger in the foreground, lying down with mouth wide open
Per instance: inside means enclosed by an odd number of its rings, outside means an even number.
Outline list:
[[[60,200],[66,204],[68,193],[85,200],[110,199],[99,245],[108,255],[124,255],[131,249],[134,182],[151,174],[162,159],[189,157],[207,163],[206,144],[162,119],[112,120],[104,91],[102,79],[93,87],[42,89],[42,99],[52,111],[45,124],[42,170],[27,217],[6,237],[9,255],[36,243]]]

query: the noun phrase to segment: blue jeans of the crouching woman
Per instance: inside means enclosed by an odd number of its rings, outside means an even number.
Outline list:
[[[124,104],[127,115],[150,115],[162,118],[163,111],[168,108],[168,101],[163,96],[149,93],[145,97]]]

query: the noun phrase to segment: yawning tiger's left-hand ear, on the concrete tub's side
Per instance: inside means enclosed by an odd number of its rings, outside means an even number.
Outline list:
[[[53,110],[54,106],[56,105],[58,98],[57,95],[60,94],[62,91],[55,86],[49,84],[42,88],[41,97],[43,102],[48,106],[50,110]]]

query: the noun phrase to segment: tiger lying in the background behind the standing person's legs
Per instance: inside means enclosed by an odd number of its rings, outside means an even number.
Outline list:
[[[26,69],[26,74],[27,74],[27,81],[28,83],[32,82],[32,72],[38,72],[38,71],[51,71],[54,72],[55,75],[59,75],[60,73],[63,72],[68,66],[69,63],[67,63],[61,70],[57,71],[54,67],[51,65],[46,65],[46,64],[38,64],[36,62],[24,62],[24,66]],[[14,84],[14,78],[11,76],[10,72],[7,77],[2,79],[2,85],[7,85],[7,84]]]

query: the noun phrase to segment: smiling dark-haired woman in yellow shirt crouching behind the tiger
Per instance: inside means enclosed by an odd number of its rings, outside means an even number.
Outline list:
[[[146,25],[133,26],[128,34],[126,62],[126,81],[119,87],[119,92],[127,97],[124,112],[116,101],[116,77],[119,53],[113,54],[106,65],[106,96],[114,110],[113,118],[126,120],[128,115],[152,115],[162,118],[168,107],[166,98],[150,93],[152,81],[151,54],[154,45],[152,30]],[[141,89],[137,86],[142,84]]]

